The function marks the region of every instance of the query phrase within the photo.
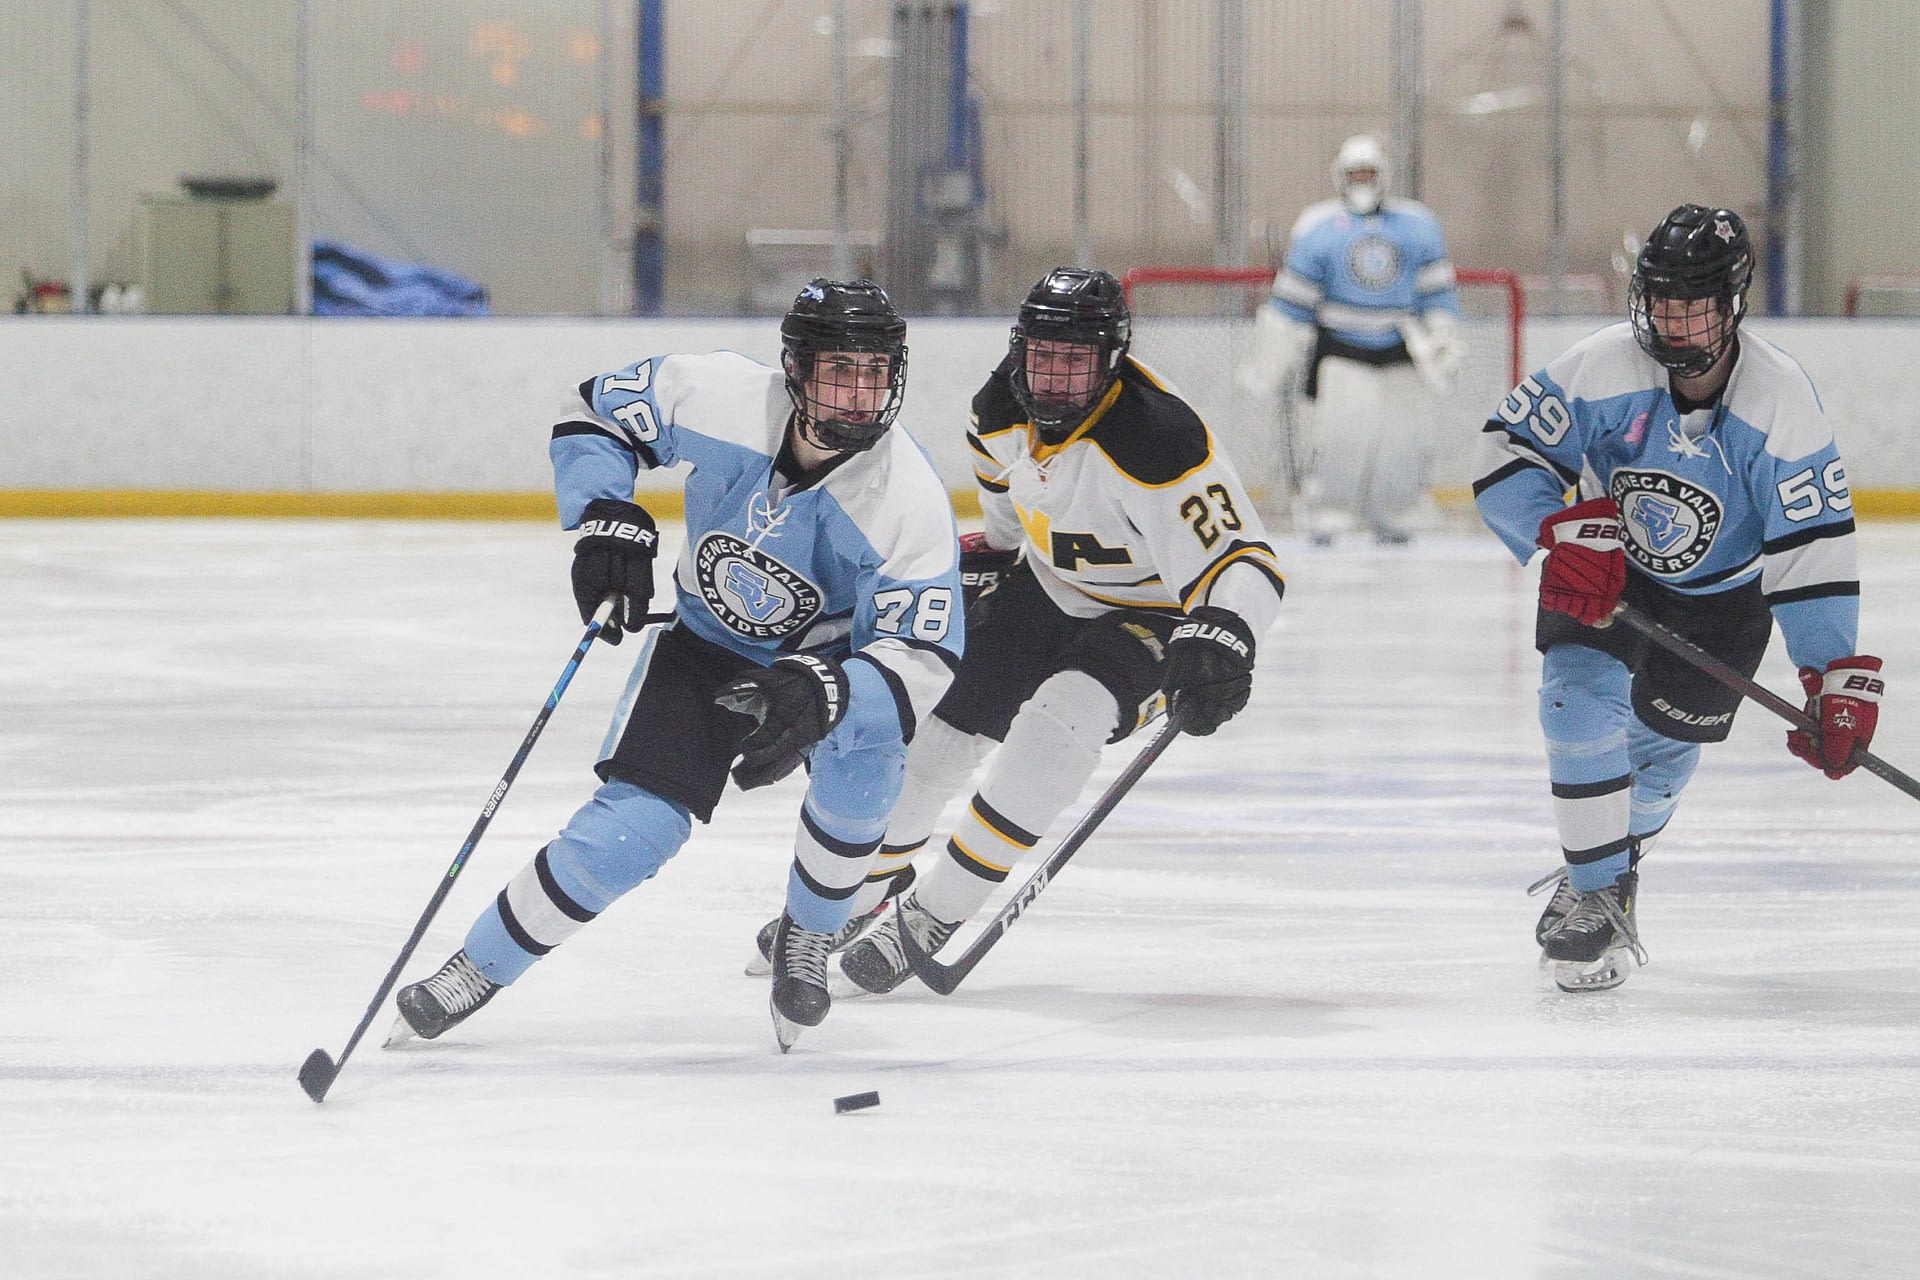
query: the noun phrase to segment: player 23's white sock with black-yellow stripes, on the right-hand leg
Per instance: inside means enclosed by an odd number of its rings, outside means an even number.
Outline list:
[[[1092,676],[1050,676],[1014,718],[947,856],[914,885],[920,906],[948,923],[973,915],[1079,796],[1117,720],[1119,704]]]

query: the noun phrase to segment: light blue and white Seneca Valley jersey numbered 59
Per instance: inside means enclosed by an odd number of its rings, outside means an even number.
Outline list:
[[[1855,652],[1847,470],[1807,372],[1764,338],[1743,332],[1720,399],[1682,413],[1632,324],[1611,324],[1515,388],[1480,439],[1475,501],[1521,562],[1578,486],[1620,503],[1632,572],[1688,595],[1759,576],[1795,664]]]

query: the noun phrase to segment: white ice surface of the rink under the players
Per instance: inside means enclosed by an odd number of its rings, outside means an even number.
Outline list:
[[[1486,535],[1284,545],[1252,708],[950,998],[776,1052],[789,781],[445,1040],[382,1009],[315,1107],[580,635],[566,543],[0,524],[0,1276],[1920,1274],[1920,804],[1749,706],[1644,865],[1651,967],[1542,992],[1532,585]],[[1862,562],[1920,770],[1920,528]],[[409,979],[588,794],[632,652]]]

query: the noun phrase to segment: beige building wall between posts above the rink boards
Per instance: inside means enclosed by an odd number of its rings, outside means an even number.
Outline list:
[[[0,271],[65,276],[75,0],[0,10]],[[1807,0],[1809,8],[1824,8]],[[140,192],[182,173],[292,171],[292,0],[90,0],[96,282],[134,269]],[[854,228],[889,175],[889,0],[849,0]],[[1392,117],[1390,0],[1242,0],[1248,255],[1329,194],[1340,138]],[[636,6],[628,0],[324,0],[313,10],[315,234],[478,276],[507,313],[589,313],[601,276],[599,40],[607,186],[632,217]],[[732,311],[751,228],[829,228],[831,0],[668,0],[668,309]],[[1210,261],[1213,0],[1096,0],[1092,242],[1102,263]],[[1073,0],[973,0],[985,138],[987,296],[1073,251]],[[605,13],[605,31],[601,31]],[[1680,200],[1764,205],[1766,0],[1592,0],[1569,13],[1574,273]],[[1546,269],[1544,0],[1425,6],[1425,198],[1455,259]],[[1828,278],[1914,267],[1876,213],[1912,207],[1910,4],[1832,6]],[[1816,238],[1816,244],[1818,238]],[[1832,284],[1814,301],[1837,305]],[[1617,292],[1615,292],[1617,301]]]

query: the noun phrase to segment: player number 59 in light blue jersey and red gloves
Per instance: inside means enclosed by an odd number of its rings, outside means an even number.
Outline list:
[[[1630,322],[1521,382],[1482,436],[1480,516],[1523,562],[1548,553],[1534,643],[1565,865],[1536,885],[1553,896],[1534,935],[1561,990],[1645,963],[1636,865],[1740,706],[1609,626],[1619,601],[1749,677],[1778,622],[1820,725],[1788,748],[1828,777],[1874,735],[1847,472],[1801,367],[1740,334],[1751,278],[1736,213],[1674,209],[1640,249]]]

